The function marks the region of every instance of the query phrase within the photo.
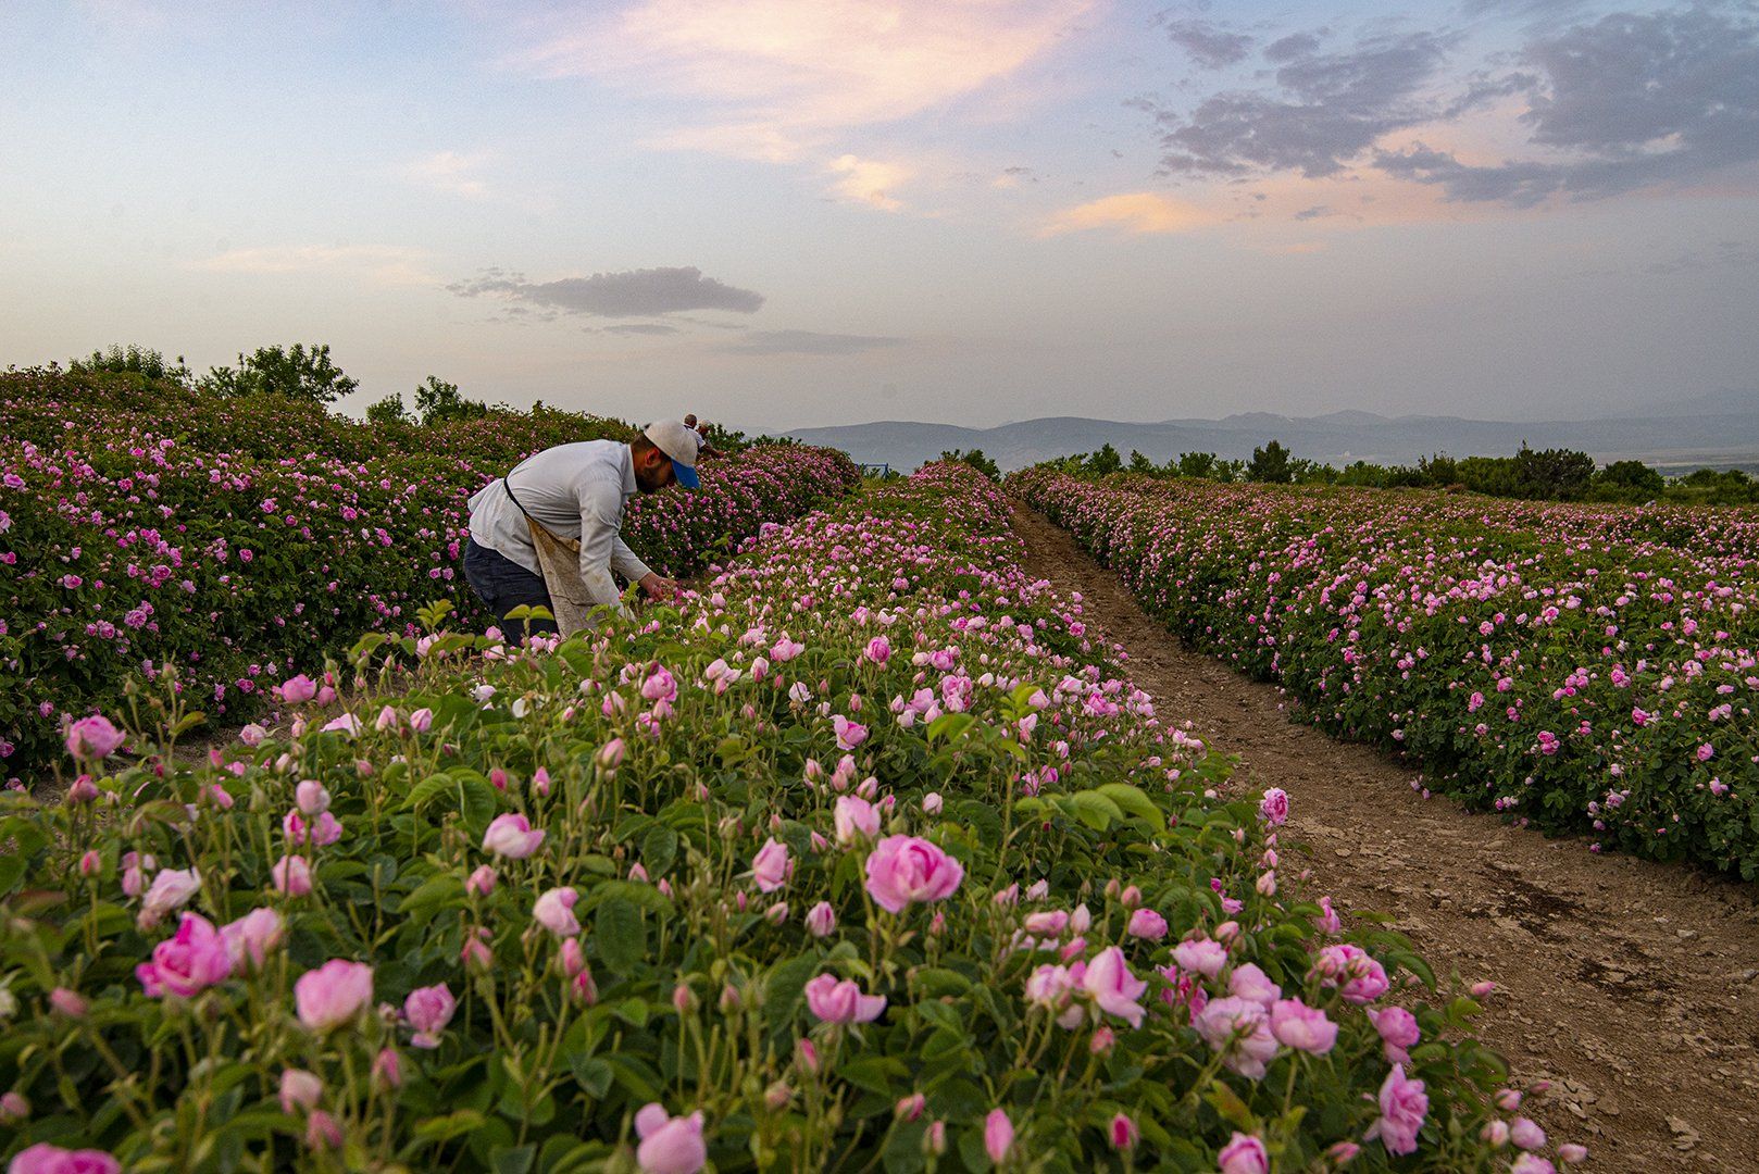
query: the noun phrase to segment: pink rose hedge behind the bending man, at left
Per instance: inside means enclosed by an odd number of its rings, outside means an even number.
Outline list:
[[[617,421],[496,412],[376,431],[276,396],[208,400],[137,377],[0,375],[0,773],[42,762],[69,720],[178,667],[208,715],[362,632],[413,634],[424,604],[480,620],[459,567],[468,498],[549,444]],[[850,491],[837,452],[751,449],[702,491],[630,505],[658,570],[698,572],[762,523]]]

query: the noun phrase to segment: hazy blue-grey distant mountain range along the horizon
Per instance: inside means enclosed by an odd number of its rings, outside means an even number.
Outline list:
[[[1004,470],[1054,456],[1092,452],[1110,442],[1124,458],[1136,449],[1154,461],[1180,452],[1251,458],[1279,440],[1295,456],[1337,466],[1351,461],[1411,465],[1420,456],[1509,456],[1522,442],[1536,449],[1581,449],[1601,461],[1641,459],[1666,472],[1682,468],[1759,470],[1759,389],[1715,393],[1669,405],[1666,412],[1618,414],[1573,421],[1472,421],[1456,415],[1274,415],[1245,412],[1219,421],[1175,419],[1154,424],[1057,415],[996,428],[959,428],[915,421],[876,421],[788,433],[807,444],[843,449],[857,461],[913,470],[946,449],[983,449]]]

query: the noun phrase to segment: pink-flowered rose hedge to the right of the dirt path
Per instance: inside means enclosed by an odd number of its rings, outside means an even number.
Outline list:
[[[1427,787],[1759,877],[1759,514],[1029,470],[1013,491],[1200,648]]]

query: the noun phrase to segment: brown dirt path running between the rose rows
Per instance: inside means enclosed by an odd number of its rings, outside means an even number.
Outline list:
[[[1752,887],[1425,801],[1411,767],[1289,723],[1274,685],[1186,649],[1043,516],[1017,507],[1015,530],[1163,718],[1238,753],[1244,789],[1289,792],[1319,892],[1395,915],[1439,973],[1497,980],[1479,1033],[1516,1079],[1551,1081],[1529,1111],[1555,1141],[1587,1144],[1594,1170],[1759,1170]]]

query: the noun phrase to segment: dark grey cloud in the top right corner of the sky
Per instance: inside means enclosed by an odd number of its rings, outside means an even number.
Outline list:
[[[1527,46],[1522,121],[1564,158],[1463,164],[1414,146],[1377,165],[1453,201],[1532,206],[1692,183],[1759,160],[1759,23],[1694,7],[1604,16]]]

